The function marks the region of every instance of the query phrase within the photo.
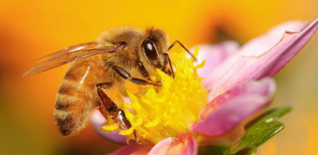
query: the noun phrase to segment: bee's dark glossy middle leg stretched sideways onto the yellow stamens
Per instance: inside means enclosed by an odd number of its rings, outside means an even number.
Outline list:
[[[112,69],[115,70],[115,72],[118,75],[120,75],[124,79],[130,80],[133,83],[142,84],[142,85],[151,84],[151,85],[154,85],[154,86],[161,87],[161,83],[154,83],[154,82],[152,82],[150,80],[145,80],[145,79],[141,79],[141,78],[131,77],[131,75],[125,69],[123,69],[123,68],[121,68],[119,66],[113,65]]]

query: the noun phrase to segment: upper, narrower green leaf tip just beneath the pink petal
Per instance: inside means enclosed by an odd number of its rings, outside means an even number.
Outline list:
[[[256,117],[252,121],[250,121],[248,124],[245,125],[245,129],[249,129],[252,126],[256,126],[258,124],[262,123],[268,123],[271,121],[276,120],[277,118],[283,116],[284,114],[288,113],[291,110],[290,107],[280,107],[280,108],[274,108],[265,111],[260,116]]]

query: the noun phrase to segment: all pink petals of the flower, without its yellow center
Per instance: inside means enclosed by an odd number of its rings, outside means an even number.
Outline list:
[[[198,63],[206,60],[198,74],[208,90],[207,105],[188,130],[153,145],[135,142],[111,154],[196,154],[198,145],[232,145],[244,134],[243,121],[266,107],[274,94],[271,78],[309,41],[318,28],[318,18],[305,26],[300,21],[280,24],[266,34],[239,47],[235,41],[201,45]],[[285,31],[286,30],[286,31]],[[99,130],[106,120],[94,112],[96,131],[115,142],[122,135]]]

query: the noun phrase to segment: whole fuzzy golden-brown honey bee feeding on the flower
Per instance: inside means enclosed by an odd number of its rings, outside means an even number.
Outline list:
[[[103,32],[97,41],[69,46],[38,58],[46,59],[23,76],[72,61],[55,99],[55,123],[63,136],[84,128],[90,113],[98,106],[121,129],[128,129],[131,123],[123,110],[103,90],[124,87],[127,80],[160,87],[160,82],[153,82],[150,75],[159,68],[174,77],[167,52],[175,43],[190,53],[178,40],[168,46],[168,35],[159,28],[149,27],[142,31],[134,27],[118,27]],[[134,136],[136,138],[135,130]]]

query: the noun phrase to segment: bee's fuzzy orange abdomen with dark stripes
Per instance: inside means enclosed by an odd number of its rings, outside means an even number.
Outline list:
[[[85,127],[98,105],[96,83],[105,81],[105,68],[90,59],[75,61],[67,70],[55,99],[55,122],[66,136]]]

